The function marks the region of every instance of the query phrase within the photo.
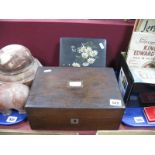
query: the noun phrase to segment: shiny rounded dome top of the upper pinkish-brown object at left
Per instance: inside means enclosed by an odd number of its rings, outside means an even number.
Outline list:
[[[17,74],[33,63],[34,59],[28,48],[19,44],[10,44],[0,49],[0,72]]]

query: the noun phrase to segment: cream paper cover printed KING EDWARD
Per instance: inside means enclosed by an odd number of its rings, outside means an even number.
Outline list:
[[[127,52],[129,67],[155,67],[155,35],[133,32]]]

